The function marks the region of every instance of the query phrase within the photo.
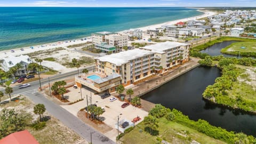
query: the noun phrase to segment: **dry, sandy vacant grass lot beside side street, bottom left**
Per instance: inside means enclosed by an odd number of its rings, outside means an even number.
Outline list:
[[[11,101],[5,105],[1,105],[0,111],[4,108],[17,110],[17,113],[28,115],[26,121],[32,123],[38,119],[38,115],[33,113],[35,104],[27,97],[21,96],[19,101]],[[87,143],[73,130],[63,125],[58,119],[46,112],[43,116],[50,116],[51,118],[46,122],[46,126],[42,130],[35,130],[29,125],[25,127],[39,143]]]

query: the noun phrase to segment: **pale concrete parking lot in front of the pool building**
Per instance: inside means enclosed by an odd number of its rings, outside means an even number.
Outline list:
[[[81,94],[79,93],[80,92],[79,87],[78,89],[74,89],[73,87],[70,87],[68,90],[70,92],[66,93],[65,95],[67,95],[70,99],[72,100],[81,99]],[[132,121],[133,118],[140,116],[142,119],[139,122],[141,122],[143,121],[143,118],[148,115],[147,111],[144,111],[141,108],[137,108],[132,105],[122,108],[121,106],[123,103],[125,103],[124,101],[120,101],[117,99],[113,102],[110,102],[109,99],[112,98],[113,96],[110,96],[105,99],[101,99],[100,95],[97,95],[97,94],[94,95],[94,93],[91,93],[89,90],[86,90],[86,89],[82,89],[82,98],[85,98],[83,101],[79,101],[77,103],[74,103],[73,105],[62,105],[61,107],[68,110],[71,114],[77,116],[77,112],[80,109],[85,108],[87,105],[86,94],[88,95],[89,105],[90,105],[90,98],[91,98],[92,100],[91,104],[96,104],[98,107],[105,108],[106,111],[102,115],[100,115],[100,117],[105,118],[103,122],[108,126],[112,127],[113,129],[115,129],[115,123],[117,123],[117,116],[119,116],[119,121],[121,121],[122,119],[128,119]],[[137,123],[135,123],[135,125],[136,124]],[[108,135],[106,136],[108,137]],[[115,136],[113,135],[111,137],[116,137],[116,136],[117,136],[117,133]]]

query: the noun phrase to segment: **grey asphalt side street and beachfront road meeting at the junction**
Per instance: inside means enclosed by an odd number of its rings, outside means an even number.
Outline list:
[[[89,71],[92,71],[95,66],[86,67]],[[81,69],[82,71],[82,69]],[[60,79],[64,79],[70,76],[74,76],[77,74],[77,70],[70,71],[65,74],[58,74],[50,77],[50,81],[58,81]],[[48,83],[48,78],[42,79],[42,84]],[[54,102],[48,100],[44,97],[43,94],[39,93],[38,87],[39,82],[31,82],[30,87],[26,87],[25,89],[18,89],[18,86],[13,87],[12,94],[22,94],[28,96],[35,103],[43,103],[46,110],[53,115],[55,118],[59,119],[63,124],[68,126],[70,129],[74,130],[77,134],[79,134],[86,141],[91,141],[91,132],[92,132],[92,143],[115,143],[109,138],[105,137],[102,133],[95,130],[90,125],[85,124],[80,119],[75,117],[73,114],[70,114],[67,110],[63,109],[59,105]]]

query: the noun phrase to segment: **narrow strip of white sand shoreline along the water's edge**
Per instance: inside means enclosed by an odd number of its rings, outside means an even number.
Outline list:
[[[141,29],[141,30],[145,31],[149,28],[154,29],[154,28],[161,27],[162,25],[174,25],[175,23],[180,22],[180,21],[185,22],[188,20],[205,18],[207,16],[216,14],[215,12],[208,11],[208,10],[203,11],[202,9],[198,9],[197,11],[204,12],[204,13],[201,15],[194,16],[194,17],[172,20],[172,21],[167,21],[164,23],[158,23],[155,25],[150,25],[150,26],[145,26],[145,27],[140,27],[140,28],[133,28],[133,29]],[[117,33],[123,33],[124,31],[126,31],[126,30],[118,31]],[[85,38],[86,38],[86,40],[81,41],[81,39],[85,39]],[[19,48],[15,48],[15,49],[2,50],[0,53],[0,59],[3,59],[5,57],[7,57],[8,55],[17,56],[17,55],[27,54],[27,53],[31,53],[31,52],[35,52],[35,51],[49,50],[49,49],[54,49],[57,47],[67,47],[68,45],[81,44],[81,43],[86,43],[86,42],[90,42],[90,41],[91,41],[91,36],[88,36],[88,37],[77,38],[77,39],[72,39],[72,40],[69,39],[66,41],[57,41],[57,42],[52,42],[52,43],[39,44],[39,45],[33,46],[34,49],[31,49],[30,46],[26,46],[26,47],[19,47]],[[23,49],[23,51],[21,51],[21,49]],[[14,50],[14,52],[11,52],[11,50]],[[70,49],[70,50],[72,50],[72,49]]]

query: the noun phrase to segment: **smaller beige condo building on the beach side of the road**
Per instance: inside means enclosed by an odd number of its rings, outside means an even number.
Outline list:
[[[127,46],[128,44],[128,35],[121,35],[117,33],[111,33],[108,31],[102,31],[92,34],[92,43],[101,44],[107,43],[108,45],[114,45],[116,47]]]

